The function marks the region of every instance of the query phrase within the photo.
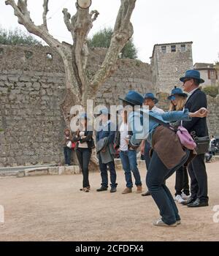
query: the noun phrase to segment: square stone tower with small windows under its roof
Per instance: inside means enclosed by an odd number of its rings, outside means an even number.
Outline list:
[[[180,86],[179,78],[187,69],[193,69],[193,42],[173,42],[154,45],[150,57],[155,91],[169,92]]]

